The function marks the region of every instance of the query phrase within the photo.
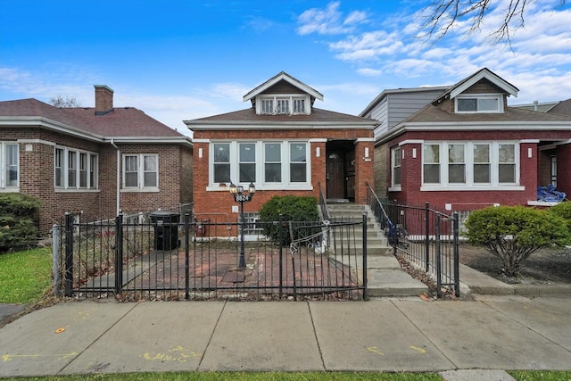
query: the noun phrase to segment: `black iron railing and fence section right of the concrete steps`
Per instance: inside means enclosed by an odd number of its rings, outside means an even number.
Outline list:
[[[434,277],[438,296],[443,287],[459,296],[459,215],[379,200],[368,186],[368,203],[395,255]]]

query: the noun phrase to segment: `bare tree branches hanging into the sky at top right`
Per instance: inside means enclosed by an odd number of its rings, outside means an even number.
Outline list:
[[[511,33],[525,26],[525,12],[532,0],[509,0],[502,10],[503,19],[498,29],[491,33],[493,44],[511,41]],[[458,21],[468,21],[468,35],[480,29],[484,16],[492,12],[494,4],[500,1],[492,0],[434,0],[424,9],[426,21],[422,29],[426,30],[427,39],[440,40]],[[565,5],[566,0],[559,0],[559,6]],[[498,5],[500,6],[500,5]]]

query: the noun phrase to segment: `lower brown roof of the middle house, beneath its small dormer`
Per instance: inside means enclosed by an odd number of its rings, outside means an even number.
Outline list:
[[[188,128],[193,130],[212,128],[374,128],[378,124],[378,120],[317,108],[313,108],[309,115],[260,115],[256,114],[255,109],[248,108],[206,118],[184,120],[184,122]]]

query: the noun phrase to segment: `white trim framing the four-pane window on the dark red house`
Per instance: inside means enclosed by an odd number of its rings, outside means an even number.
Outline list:
[[[448,181],[448,145],[460,145],[466,146],[465,153],[465,164],[466,164],[466,183],[449,183]],[[474,182],[474,145],[490,145],[490,177],[491,182],[489,184],[475,183]],[[440,146],[440,183],[439,184],[425,184],[425,158],[424,158],[424,145],[439,145]],[[514,156],[516,159],[516,182],[515,183],[500,183],[499,181],[499,158],[498,158],[498,147],[499,145],[514,145],[515,152]],[[425,141],[422,147],[422,163],[421,163],[421,191],[459,191],[459,190],[525,190],[525,186],[519,185],[519,172],[520,172],[520,157],[519,157],[519,142],[517,141]]]

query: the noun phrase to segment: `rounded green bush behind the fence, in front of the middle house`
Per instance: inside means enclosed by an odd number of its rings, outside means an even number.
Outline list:
[[[279,215],[284,221],[317,221],[319,220],[318,201],[313,196],[275,195],[260,209],[260,219],[264,223],[264,236],[279,242],[279,227],[271,222],[278,221]],[[287,228],[283,229],[282,244],[289,244],[291,237]]]

